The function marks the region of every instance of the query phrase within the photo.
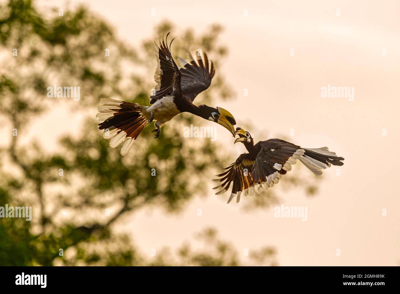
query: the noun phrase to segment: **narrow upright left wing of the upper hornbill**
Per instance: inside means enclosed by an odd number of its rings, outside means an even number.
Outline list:
[[[154,81],[156,86],[154,87],[155,92],[152,93],[150,104],[153,104],[156,100],[172,93],[176,78],[180,75],[179,68],[176,65],[174,58],[170,51],[172,41],[168,46],[168,35],[167,34],[164,42],[160,41],[160,46],[156,45],[156,56],[157,56],[157,68],[154,73]]]

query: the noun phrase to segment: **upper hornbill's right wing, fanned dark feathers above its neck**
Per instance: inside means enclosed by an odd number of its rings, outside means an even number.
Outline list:
[[[180,69],[182,74],[180,82],[182,94],[193,102],[200,92],[203,92],[211,85],[211,79],[215,74],[214,64],[211,60],[208,60],[206,53],[204,53],[204,61],[198,55],[197,62],[193,57],[190,62],[179,58],[179,62],[183,66]]]

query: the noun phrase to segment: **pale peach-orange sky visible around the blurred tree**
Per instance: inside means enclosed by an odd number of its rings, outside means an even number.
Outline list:
[[[69,1],[69,6],[82,2],[104,16],[132,45],[151,36],[154,26],[164,19],[172,20],[177,32],[187,27],[204,32],[212,23],[221,24],[225,30],[220,40],[228,46],[229,55],[217,72],[226,76],[237,95],[235,100],[216,105],[232,112],[238,126],[250,120],[264,130],[265,138],[256,140],[284,135],[302,146],[328,146],[345,158],[340,176],[335,175],[335,168],[324,171],[316,197],[307,198],[302,191],[284,192],[284,179],[273,188],[280,192],[285,206],[308,207],[308,220],[304,222],[275,218],[273,208],[243,212],[240,208],[245,197],[239,204],[227,205],[228,193],[214,196],[211,178],[210,196],[195,198],[179,215],[143,209],[122,217],[118,230],[132,232],[144,254],[150,257],[151,248],[177,248],[192,240],[195,232],[213,226],[239,254],[245,248],[275,246],[282,266],[399,264],[397,1],[235,4],[91,0]],[[41,7],[68,7],[66,1],[39,3]],[[151,16],[153,8],[156,16]],[[244,9],[248,16],[243,15]],[[340,16],[335,15],[336,9],[340,9]],[[290,56],[290,49],[294,56]],[[384,49],[386,56],[382,56]],[[354,87],[354,101],[321,98],[321,87],[328,84]],[[248,89],[248,96],[243,96],[244,89]],[[68,112],[49,114],[62,115],[68,116]],[[37,124],[45,129],[36,130],[47,134],[53,129],[61,134],[71,128],[55,128],[43,120]],[[290,129],[294,129],[292,137]],[[382,129],[387,130],[386,136],[382,136]],[[226,136],[227,142],[232,140],[228,132],[221,132],[221,136]],[[244,152],[243,146],[236,145],[227,144],[226,148],[236,154]],[[292,173],[299,172],[298,165]],[[201,217],[197,216],[198,208],[202,209]],[[387,210],[387,216],[382,216],[382,209]],[[340,248],[340,256],[336,256],[336,248]]]

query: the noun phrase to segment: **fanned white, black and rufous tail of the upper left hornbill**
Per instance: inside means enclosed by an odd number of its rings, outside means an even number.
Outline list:
[[[98,125],[105,130],[103,137],[110,140],[112,148],[125,142],[121,155],[128,153],[132,143],[144,127],[148,125],[148,118],[142,115],[144,106],[114,99],[102,99],[96,115],[102,122]]]

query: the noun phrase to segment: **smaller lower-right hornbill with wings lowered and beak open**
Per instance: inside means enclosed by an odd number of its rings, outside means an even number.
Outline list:
[[[232,193],[228,203],[235,197],[236,202],[240,200],[240,194],[252,195],[254,192],[260,194],[262,190],[271,188],[277,184],[292,169],[292,164],[300,160],[309,170],[317,176],[322,170],[333,165],[341,166],[343,157],[336,156],[335,152],[328,147],[302,148],[280,139],[269,139],[254,144],[249,132],[242,128],[236,128],[239,136],[234,142],[242,142],[248,153],[240,154],[236,162],[225,168],[226,172],[217,175],[215,182],[222,183],[214,189],[221,188],[216,194],[226,192],[233,182]]]

